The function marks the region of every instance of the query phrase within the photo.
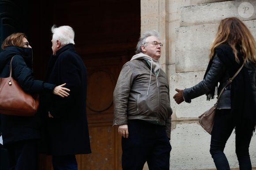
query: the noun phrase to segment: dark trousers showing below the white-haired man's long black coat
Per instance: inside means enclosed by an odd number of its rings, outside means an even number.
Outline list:
[[[53,155],[54,170],[77,170],[75,155]]]

